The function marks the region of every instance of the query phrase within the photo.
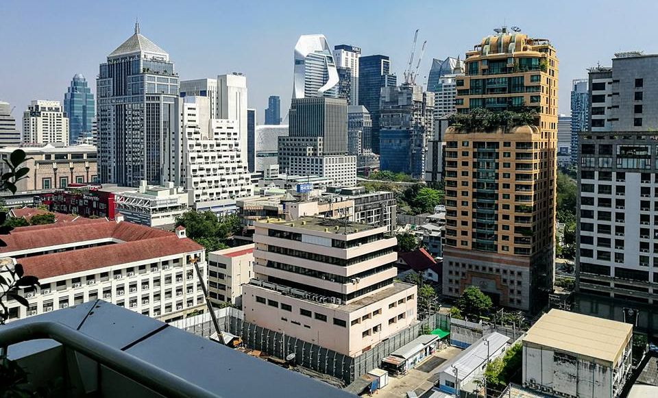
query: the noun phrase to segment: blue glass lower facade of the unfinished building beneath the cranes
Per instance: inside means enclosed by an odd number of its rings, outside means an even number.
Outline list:
[[[379,136],[380,169],[411,175],[411,134],[407,129],[385,129]]]

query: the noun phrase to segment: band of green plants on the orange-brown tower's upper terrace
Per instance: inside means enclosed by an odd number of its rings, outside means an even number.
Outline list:
[[[457,130],[486,132],[497,128],[509,129],[515,126],[536,125],[538,116],[539,114],[533,108],[523,108],[520,112],[511,110],[492,112],[485,108],[473,108],[468,113],[452,114],[448,123]]]

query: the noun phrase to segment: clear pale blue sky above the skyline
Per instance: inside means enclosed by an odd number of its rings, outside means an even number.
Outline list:
[[[569,113],[570,82],[587,77],[617,51],[657,53],[656,1],[25,1],[0,2],[0,100],[22,112],[32,99],[63,100],[75,73],[95,91],[98,66],[133,33],[169,52],[181,79],[247,75],[249,107],[263,110],[292,92],[293,48],[301,34],[322,33],[331,46],[361,47],[391,56],[399,79],[413,32],[432,58],[456,56],[504,23],[548,38],[559,57],[559,112]]]

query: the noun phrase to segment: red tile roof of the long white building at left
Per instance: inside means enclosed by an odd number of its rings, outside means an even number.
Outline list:
[[[94,223],[56,223],[19,227],[1,238],[7,246],[0,247],[0,253],[97,239],[118,241],[110,245],[18,260],[25,267],[25,273],[40,279],[204,249],[189,238],[178,238],[173,232],[105,219]]]

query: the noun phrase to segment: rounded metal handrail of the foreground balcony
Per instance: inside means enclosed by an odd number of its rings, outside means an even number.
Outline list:
[[[173,373],[61,323],[40,321],[0,328],[0,344],[5,352],[11,345],[38,338],[55,340],[165,397],[217,397]]]

